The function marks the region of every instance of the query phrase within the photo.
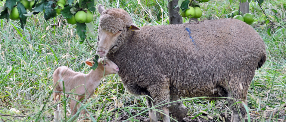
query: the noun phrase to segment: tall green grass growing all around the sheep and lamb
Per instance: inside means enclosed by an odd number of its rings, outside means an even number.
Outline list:
[[[269,8],[265,12],[272,21],[285,26],[286,0],[264,2],[263,8]],[[96,1],[95,4],[117,7],[117,3],[111,1]],[[0,1],[0,7],[3,5],[4,2]],[[200,3],[200,6],[204,12],[199,20],[205,20],[226,18],[226,14],[237,10],[239,4],[237,1],[230,4],[226,0],[211,0]],[[128,11],[138,26],[168,24],[166,0],[141,0],[140,3],[122,0],[119,7]],[[285,28],[267,23],[265,15],[254,2],[250,3],[250,12],[255,15],[256,21],[252,26],[267,48],[267,61],[256,71],[247,96],[250,118],[251,121],[282,121],[286,115]],[[99,13],[95,12],[94,15],[92,24],[97,35]],[[75,25],[67,24],[63,18],[60,26],[51,26],[58,21],[59,17],[45,21],[42,14],[37,14],[28,17],[27,25],[22,30],[17,20],[0,20],[0,121],[51,121],[53,109],[57,106],[51,96],[55,68],[68,66],[83,73],[91,70],[82,62],[95,55],[95,50],[86,42],[79,44]],[[267,33],[269,28],[271,31]],[[88,41],[92,46],[97,46],[96,36]],[[62,116],[65,117],[63,121],[72,121],[70,109],[63,107],[69,99],[60,105]],[[220,117],[230,114],[225,100],[182,98],[182,101],[188,108],[187,116],[191,118],[204,120],[213,117],[209,121],[222,121]],[[117,74],[105,77],[95,90],[95,95],[86,102],[81,109],[89,109],[94,121],[143,121],[148,117],[145,96],[129,94]],[[204,110],[207,114],[203,114]]]

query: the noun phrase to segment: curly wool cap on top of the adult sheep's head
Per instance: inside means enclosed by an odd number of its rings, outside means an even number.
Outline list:
[[[99,27],[113,34],[130,25],[129,23],[133,23],[131,16],[118,8],[104,10],[99,18]]]

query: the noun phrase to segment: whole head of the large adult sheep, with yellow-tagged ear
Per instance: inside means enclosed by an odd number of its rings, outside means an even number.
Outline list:
[[[124,43],[127,31],[136,31],[140,28],[132,23],[131,16],[122,9],[107,9],[102,5],[98,6],[99,27],[98,27],[98,55],[104,57],[110,49],[116,52]]]

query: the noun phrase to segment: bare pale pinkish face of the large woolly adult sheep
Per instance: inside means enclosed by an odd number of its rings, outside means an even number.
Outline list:
[[[122,30],[119,29],[117,32],[112,33],[107,31],[106,29],[101,29],[99,33],[99,44],[98,44],[98,55],[100,57],[104,57],[109,49],[111,49],[115,45],[115,41],[117,37],[122,33]]]

